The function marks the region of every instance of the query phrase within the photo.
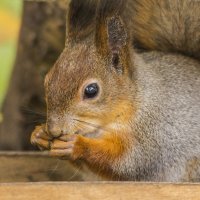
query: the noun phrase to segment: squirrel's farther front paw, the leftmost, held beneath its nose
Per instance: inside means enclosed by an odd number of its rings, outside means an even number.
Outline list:
[[[36,126],[31,134],[31,144],[40,150],[50,149],[52,138],[45,132],[45,125]]]

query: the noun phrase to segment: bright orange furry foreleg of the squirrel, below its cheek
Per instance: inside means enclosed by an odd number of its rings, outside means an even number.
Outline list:
[[[113,174],[113,163],[123,156],[128,146],[119,133],[118,135],[109,134],[100,139],[78,136],[72,158],[85,161],[92,171],[108,177],[110,172]]]

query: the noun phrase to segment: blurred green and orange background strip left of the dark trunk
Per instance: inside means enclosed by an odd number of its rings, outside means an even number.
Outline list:
[[[15,60],[22,4],[23,0],[0,0],[0,109]]]

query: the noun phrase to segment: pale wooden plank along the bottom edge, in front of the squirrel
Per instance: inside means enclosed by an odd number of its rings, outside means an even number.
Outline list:
[[[199,200],[198,184],[38,183],[0,184],[1,200]]]

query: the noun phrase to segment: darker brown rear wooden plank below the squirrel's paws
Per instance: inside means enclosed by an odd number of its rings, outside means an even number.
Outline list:
[[[82,180],[81,175],[66,160],[39,152],[0,153],[0,183],[75,180]]]

